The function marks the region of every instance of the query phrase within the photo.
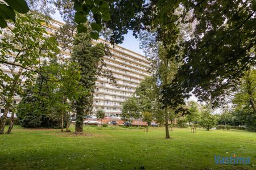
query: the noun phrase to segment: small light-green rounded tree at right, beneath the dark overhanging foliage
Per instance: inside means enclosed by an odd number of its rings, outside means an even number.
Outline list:
[[[199,122],[200,126],[207,129],[208,131],[216,125],[217,121],[212,114],[212,109],[210,105],[205,105],[203,112],[201,113],[201,120]]]

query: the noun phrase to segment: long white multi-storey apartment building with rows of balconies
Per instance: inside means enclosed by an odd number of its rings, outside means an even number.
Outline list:
[[[42,25],[46,28],[48,34],[51,34],[59,29],[63,23],[53,20],[50,25]],[[110,46],[112,56],[104,57],[106,66],[102,69],[112,71],[116,84],[105,76],[98,76],[96,89],[93,94],[93,113],[96,113],[97,110],[102,110],[105,112],[106,116],[118,116],[122,112],[123,102],[134,94],[135,88],[144,77],[150,75],[150,73],[148,73],[150,61],[141,54],[121,46],[113,46],[102,39],[93,40],[93,44],[99,42]],[[61,56],[69,58],[71,53],[69,50],[65,50],[61,52]],[[14,59],[11,55],[7,57]],[[1,68],[6,71],[6,74],[10,74],[8,66],[1,65]],[[24,80],[26,80],[26,78],[24,78]],[[19,103],[20,97],[16,96],[14,100],[16,103]],[[3,109],[1,112],[3,112]]]

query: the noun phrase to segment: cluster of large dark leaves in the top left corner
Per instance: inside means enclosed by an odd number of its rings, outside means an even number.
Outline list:
[[[7,27],[7,20],[15,22],[15,11],[25,14],[30,9],[25,0],[3,0],[0,3],[0,27]]]

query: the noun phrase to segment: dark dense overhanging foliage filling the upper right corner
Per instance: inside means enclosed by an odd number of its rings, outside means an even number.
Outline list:
[[[255,1],[183,1],[197,21],[177,77],[186,92],[214,106],[255,65]],[[185,22],[185,21],[184,21]],[[203,35],[203,36],[202,36]]]

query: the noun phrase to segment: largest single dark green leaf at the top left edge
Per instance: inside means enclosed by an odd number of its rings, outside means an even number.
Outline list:
[[[21,14],[25,14],[30,10],[25,0],[5,0],[5,2],[15,11]]]

